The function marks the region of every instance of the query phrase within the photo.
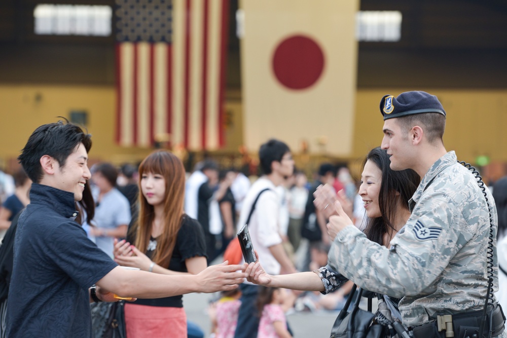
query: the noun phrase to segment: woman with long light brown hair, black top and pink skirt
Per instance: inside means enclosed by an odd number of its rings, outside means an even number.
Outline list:
[[[115,260],[157,274],[198,274],[206,264],[204,233],[183,211],[185,168],[167,151],[139,165],[139,212],[127,240],[116,242]],[[183,297],[137,299],[125,304],[127,338],[187,337]]]

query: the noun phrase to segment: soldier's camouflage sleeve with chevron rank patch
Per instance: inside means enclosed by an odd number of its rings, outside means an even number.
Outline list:
[[[426,192],[390,249],[346,227],[334,239],[329,264],[374,292],[393,297],[432,293],[433,281],[477,230],[465,224],[459,206],[441,192]]]

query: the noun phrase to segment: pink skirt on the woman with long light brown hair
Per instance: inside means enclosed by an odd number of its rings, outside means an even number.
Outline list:
[[[183,308],[125,303],[127,338],[187,338],[187,314]]]

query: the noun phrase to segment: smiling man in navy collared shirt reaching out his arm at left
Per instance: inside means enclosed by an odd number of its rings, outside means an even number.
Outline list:
[[[21,214],[7,306],[7,332],[17,337],[92,337],[89,303],[122,297],[158,298],[234,289],[240,266],[214,266],[198,275],[125,270],[91,242],[75,201],[90,178],[91,135],[59,121],[40,126],[18,157],[32,179]],[[92,286],[92,285],[96,286]]]

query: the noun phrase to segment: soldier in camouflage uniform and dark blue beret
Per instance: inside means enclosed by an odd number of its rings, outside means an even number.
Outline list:
[[[388,249],[369,241],[335,203],[338,215],[331,216],[328,224],[334,238],[329,260],[334,269],[360,287],[401,297],[402,322],[416,332],[418,326],[436,321],[439,315],[457,318],[456,314],[466,316],[484,308],[489,210],[475,176],[444,147],[445,111],[436,96],[425,92],[406,92],[396,98],[386,95],[380,110],[384,116],[382,148],[391,155],[391,169],[410,168],[422,178],[409,202],[412,214]],[[486,193],[494,219],[496,291],[497,215],[493,198],[488,190]],[[315,203],[318,208],[327,206],[318,198]],[[502,333],[502,317],[497,309],[492,336],[507,336]],[[471,319],[467,321],[467,325],[477,326]],[[459,336],[460,328],[454,330]]]

